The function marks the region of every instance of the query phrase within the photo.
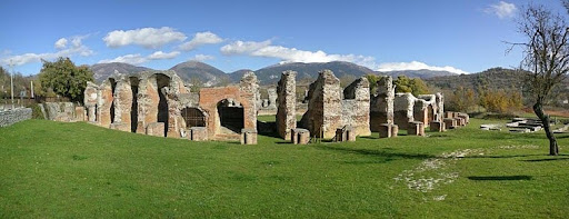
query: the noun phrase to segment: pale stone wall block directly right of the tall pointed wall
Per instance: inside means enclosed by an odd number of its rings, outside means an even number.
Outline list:
[[[369,81],[361,77],[346,87],[342,100],[342,125],[351,126],[355,136],[370,136]]]

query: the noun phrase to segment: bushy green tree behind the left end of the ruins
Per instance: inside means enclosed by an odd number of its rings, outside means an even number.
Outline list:
[[[53,90],[71,101],[82,101],[87,81],[93,81],[93,73],[87,66],[77,67],[69,58],[43,61],[39,79],[44,92]]]

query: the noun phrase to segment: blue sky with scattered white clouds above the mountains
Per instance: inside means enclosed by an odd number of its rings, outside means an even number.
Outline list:
[[[40,59],[169,69],[200,60],[226,72],[290,61],[373,70],[479,72],[513,67],[526,0],[2,1],[0,64],[38,73]],[[561,10],[558,0],[543,0]]]

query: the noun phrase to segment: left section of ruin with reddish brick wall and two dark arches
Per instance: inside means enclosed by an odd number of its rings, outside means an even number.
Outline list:
[[[257,131],[258,81],[243,76],[239,86],[190,92],[173,71],[116,72],[84,90],[87,120],[111,129],[168,138],[240,139]],[[192,127],[204,127],[194,129]],[[249,131],[251,132],[251,131]]]

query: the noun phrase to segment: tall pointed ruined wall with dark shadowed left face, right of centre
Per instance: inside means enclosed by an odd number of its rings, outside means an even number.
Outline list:
[[[333,138],[336,129],[342,127],[342,91],[340,80],[332,71],[319,72],[318,79],[310,84],[308,92],[308,111],[300,121],[313,136]]]

